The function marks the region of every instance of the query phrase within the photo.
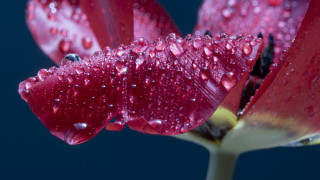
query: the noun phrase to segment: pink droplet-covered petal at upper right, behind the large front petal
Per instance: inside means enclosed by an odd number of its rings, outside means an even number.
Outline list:
[[[204,34],[255,34],[275,38],[275,62],[296,36],[309,0],[205,0],[199,11],[196,30]]]

